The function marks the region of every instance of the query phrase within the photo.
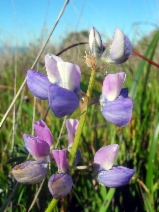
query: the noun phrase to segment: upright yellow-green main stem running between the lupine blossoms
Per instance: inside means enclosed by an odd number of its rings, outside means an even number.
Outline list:
[[[73,142],[73,146],[72,146],[72,149],[71,149],[71,152],[70,152],[70,157],[69,157],[70,167],[73,166],[74,159],[75,159],[75,156],[76,156],[76,151],[77,151],[78,144],[79,144],[79,141],[80,141],[80,138],[81,138],[84,122],[85,122],[86,115],[87,115],[89,101],[90,101],[90,98],[91,98],[91,95],[92,95],[92,88],[94,86],[95,75],[96,75],[96,69],[92,69],[92,73],[91,73],[86,97],[84,99],[83,110],[82,110],[82,113],[81,113],[81,116],[80,116],[78,128],[77,128],[76,135],[75,135],[74,142]]]

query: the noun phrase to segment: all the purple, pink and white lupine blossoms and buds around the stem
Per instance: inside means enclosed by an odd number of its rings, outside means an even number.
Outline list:
[[[115,30],[110,46],[104,48],[99,33],[92,28],[89,36],[90,54],[86,55],[86,63],[91,68],[97,59],[106,63],[121,64],[125,62],[132,51],[129,39],[119,30]],[[93,61],[93,62],[92,62]],[[93,65],[92,65],[93,64]],[[34,70],[27,72],[27,85],[31,93],[40,99],[48,100],[49,106],[58,118],[72,114],[79,106],[82,98],[80,91],[80,68],[76,64],[64,62],[60,57],[52,54],[45,56],[47,75]],[[123,127],[132,116],[133,101],[128,97],[128,89],[122,84],[126,78],[124,72],[107,74],[100,96],[101,111],[106,120]],[[72,188],[72,178],[69,176],[70,167],[67,153],[71,151],[78,126],[78,120],[67,119],[68,132],[67,149],[59,150],[53,146],[52,134],[42,120],[34,123],[37,136],[24,134],[26,149],[36,161],[27,161],[12,169],[12,174],[19,183],[33,184],[40,182],[47,174],[47,164],[55,161],[58,174],[53,174],[48,187],[54,198],[59,199],[68,194]],[[98,181],[107,187],[119,187],[129,183],[134,174],[133,169],[113,166],[118,145],[111,144],[99,149],[93,166],[97,172]],[[81,154],[77,150],[74,166],[80,161]]]

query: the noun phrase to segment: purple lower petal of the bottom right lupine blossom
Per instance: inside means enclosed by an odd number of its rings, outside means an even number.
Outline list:
[[[113,166],[110,170],[99,172],[98,181],[107,187],[116,188],[128,184],[133,175],[133,169],[123,166]]]

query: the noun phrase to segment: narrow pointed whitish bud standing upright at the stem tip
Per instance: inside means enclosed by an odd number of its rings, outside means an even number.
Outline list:
[[[103,51],[102,39],[99,32],[93,27],[89,34],[90,53],[99,58]]]

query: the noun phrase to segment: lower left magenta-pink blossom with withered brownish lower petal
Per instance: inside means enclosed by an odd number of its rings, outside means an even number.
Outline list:
[[[36,136],[24,134],[24,144],[36,161],[26,161],[12,169],[14,178],[19,183],[34,184],[40,182],[47,174],[47,163],[51,162],[50,146],[53,138],[44,121],[34,123]]]

